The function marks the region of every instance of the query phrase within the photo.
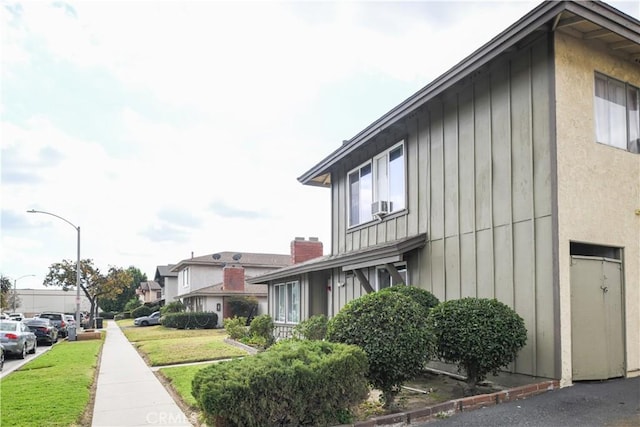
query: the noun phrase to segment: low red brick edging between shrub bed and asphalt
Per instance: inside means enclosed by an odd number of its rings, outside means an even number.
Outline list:
[[[450,400],[438,403],[425,408],[414,409],[397,414],[383,415],[353,424],[356,427],[375,427],[387,425],[408,426],[412,423],[427,422],[434,420],[439,414],[453,415],[457,412],[472,411],[487,406],[497,405],[503,402],[525,399],[536,394],[560,388],[560,381],[550,380],[541,383],[527,384],[508,390],[497,391],[490,394],[479,394],[477,396],[463,397],[461,399]]]

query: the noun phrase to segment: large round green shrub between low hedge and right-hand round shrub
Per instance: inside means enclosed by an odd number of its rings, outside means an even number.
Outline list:
[[[432,335],[423,308],[406,295],[375,292],[345,305],[327,324],[327,340],[355,344],[369,359],[368,379],[390,406],[403,382],[430,355]]]

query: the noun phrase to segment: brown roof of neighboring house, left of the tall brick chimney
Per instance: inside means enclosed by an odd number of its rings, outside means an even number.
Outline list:
[[[172,272],[178,272],[190,265],[206,265],[224,267],[226,264],[235,264],[241,267],[286,267],[291,265],[291,255],[263,254],[251,252],[217,252],[199,257],[187,258],[171,268]]]

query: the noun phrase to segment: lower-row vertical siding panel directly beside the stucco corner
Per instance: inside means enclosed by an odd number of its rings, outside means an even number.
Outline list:
[[[536,365],[535,375],[555,375],[553,324],[553,252],[551,216],[536,219]]]

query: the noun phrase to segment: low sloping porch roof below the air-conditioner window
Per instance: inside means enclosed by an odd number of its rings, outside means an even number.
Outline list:
[[[341,253],[325,255],[312,260],[284,267],[271,273],[261,274],[247,279],[247,283],[267,283],[312,271],[342,268],[343,271],[380,265],[402,260],[403,254],[421,248],[427,241],[426,233],[404,239],[393,240],[373,247]]]

